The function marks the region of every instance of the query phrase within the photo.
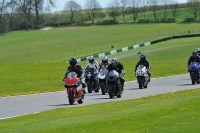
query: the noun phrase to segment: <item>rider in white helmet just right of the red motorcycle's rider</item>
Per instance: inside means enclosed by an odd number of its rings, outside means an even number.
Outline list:
[[[97,61],[94,60],[94,56],[88,57],[88,62],[86,63],[85,71],[87,71],[88,68],[94,68],[96,70],[96,80],[95,80],[94,86],[97,87],[97,84],[98,84],[97,75],[99,73],[99,64]],[[96,92],[98,92],[98,90],[96,90]]]

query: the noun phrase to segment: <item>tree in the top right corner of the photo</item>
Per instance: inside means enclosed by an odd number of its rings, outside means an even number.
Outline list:
[[[196,21],[200,13],[200,0],[188,0],[187,4],[194,21]]]

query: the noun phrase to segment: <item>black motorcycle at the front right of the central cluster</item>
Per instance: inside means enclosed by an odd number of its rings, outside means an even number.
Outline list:
[[[123,92],[122,84],[120,82],[119,73],[115,70],[111,70],[108,72],[107,76],[107,84],[108,84],[108,94],[110,98],[117,96],[117,98],[121,97]]]

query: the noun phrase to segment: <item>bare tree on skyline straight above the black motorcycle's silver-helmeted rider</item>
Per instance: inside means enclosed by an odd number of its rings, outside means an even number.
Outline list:
[[[109,16],[111,16],[113,20],[116,21],[117,16],[120,15],[118,1],[113,0],[112,2],[108,3],[108,13]]]

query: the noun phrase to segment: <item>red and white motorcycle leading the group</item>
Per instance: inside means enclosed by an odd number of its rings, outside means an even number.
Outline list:
[[[77,77],[77,73],[69,72],[64,79],[64,82],[70,105],[73,105],[75,101],[77,101],[79,104],[82,104],[84,100],[84,93],[82,84]]]

